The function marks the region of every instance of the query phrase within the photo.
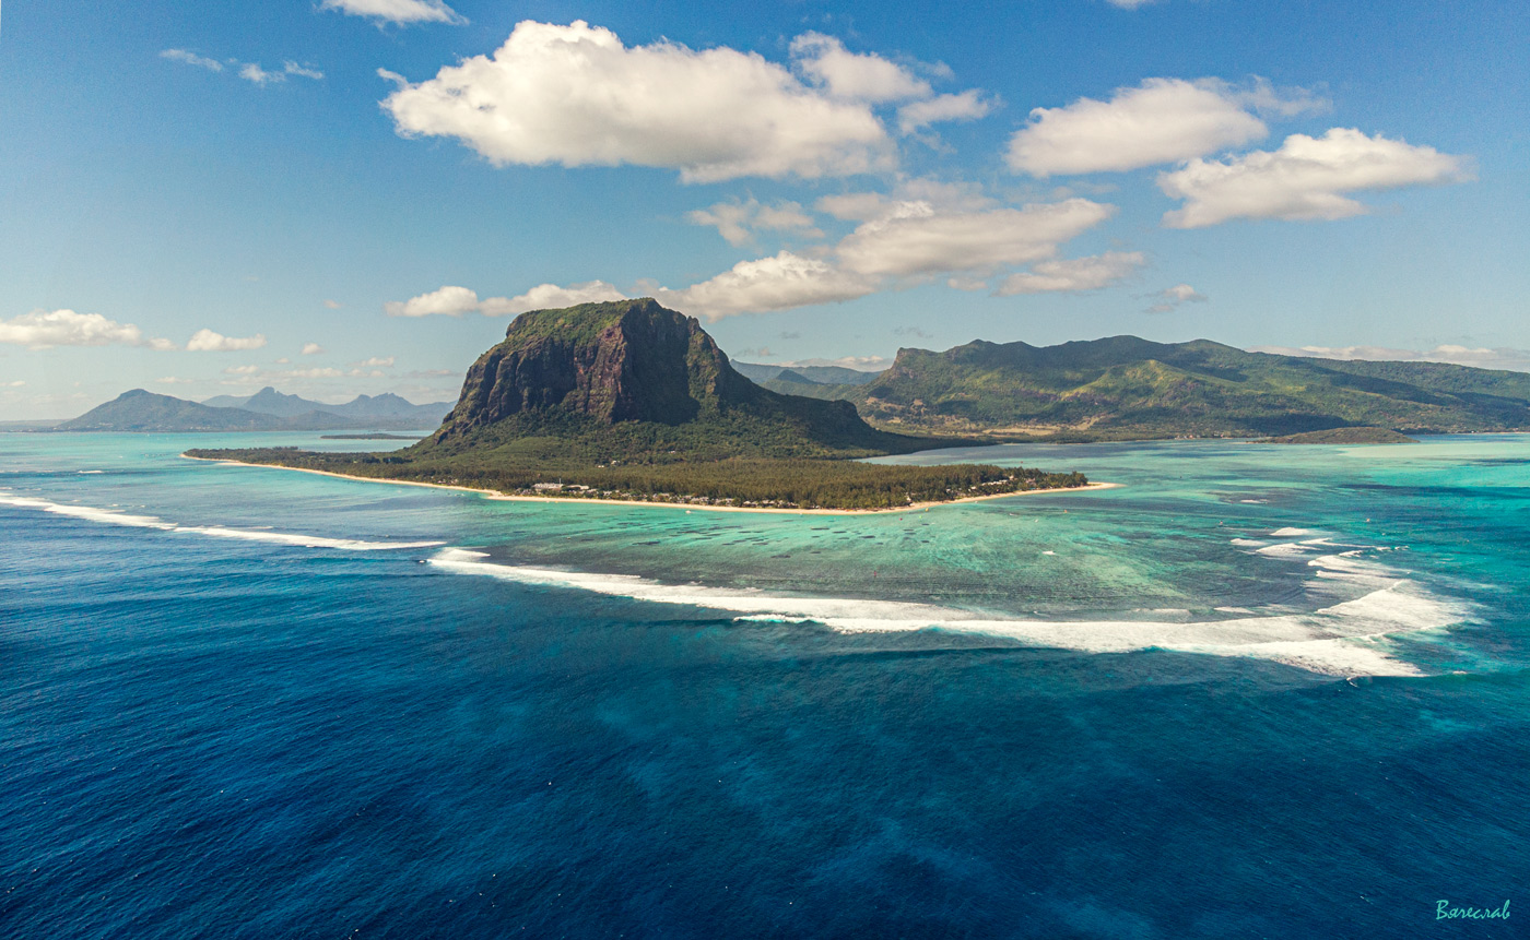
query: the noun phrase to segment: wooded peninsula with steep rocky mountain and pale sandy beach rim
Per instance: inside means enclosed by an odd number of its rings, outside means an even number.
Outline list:
[[[849,402],[762,388],[695,318],[641,298],[522,313],[468,370],[441,428],[399,451],[187,455],[513,497],[739,509],[897,509],[1089,486],[1079,472],[857,460],[972,443],[877,429]]]

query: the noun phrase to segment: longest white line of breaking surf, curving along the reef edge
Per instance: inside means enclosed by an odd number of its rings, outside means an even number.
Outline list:
[[[708,607],[741,621],[811,621],[842,633],[944,630],[1008,637],[1034,647],[1086,653],[1177,650],[1210,656],[1270,659],[1333,676],[1418,676],[1394,659],[1385,637],[1463,619],[1450,604],[1406,581],[1313,613],[1235,616],[1221,621],[1028,621],[900,601],[777,596],[747,588],[670,585],[635,575],[594,575],[483,561],[482,552],[444,549],[430,559],[442,570],[520,584],[574,587],[656,604]]]

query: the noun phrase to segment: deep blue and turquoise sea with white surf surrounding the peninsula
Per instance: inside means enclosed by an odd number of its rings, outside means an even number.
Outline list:
[[[1530,934],[1530,437],[855,517],[248,442],[0,436],[0,935]]]

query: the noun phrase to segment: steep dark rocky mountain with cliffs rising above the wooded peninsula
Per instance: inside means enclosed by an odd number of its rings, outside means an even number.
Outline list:
[[[695,318],[644,298],[522,313],[468,370],[441,429],[402,454],[662,463],[927,445],[871,428],[849,402],[760,388]]]

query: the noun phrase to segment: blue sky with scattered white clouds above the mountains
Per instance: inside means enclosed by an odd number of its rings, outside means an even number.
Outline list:
[[[725,12],[724,12],[725,11]],[[1530,5],[12,3],[0,420],[1132,333],[1530,370]]]

